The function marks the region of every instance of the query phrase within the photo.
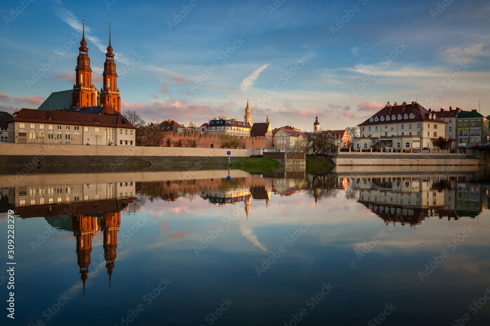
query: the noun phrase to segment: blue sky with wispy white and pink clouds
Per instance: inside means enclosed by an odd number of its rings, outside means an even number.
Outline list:
[[[490,114],[487,0],[6,0],[0,109],[73,88],[82,16],[92,81],[112,24],[122,110],[272,128],[355,126],[387,102]],[[481,105],[479,105],[481,103]]]

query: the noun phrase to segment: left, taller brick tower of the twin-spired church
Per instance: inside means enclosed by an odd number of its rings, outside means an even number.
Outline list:
[[[85,17],[83,19],[83,35],[76,58],[75,84],[73,85],[72,107],[95,107],[98,103],[98,91],[92,84],[92,69],[90,68],[89,49],[85,41]]]

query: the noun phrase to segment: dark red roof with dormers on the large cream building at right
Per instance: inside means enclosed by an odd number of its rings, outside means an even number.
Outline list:
[[[390,109],[391,109],[391,112],[390,112]],[[397,105],[396,107],[395,106],[386,106],[383,109],[380,109],[375,114],[373,114],[371,117],[372,118],[375,118],[375,117],[381,118],[382,116],[386,117],[387,115],[392,117],[393,115],[398,116],[398,114],[400,114],[401,116],[404,116],[405,114],[410,116],[410,114],[413,113],[414,118],[413,119],[410,119],[410,118],[409,119],[402,119],[402,120],[397,119],[394,121],[393,120],[390,120],[390,121],[374,121],[373,120],[372,122],[370,122],[369,121],[370,118],[368,118],[366,121],[359,124],[359,126],[391,124],[391,123],[400,123],[400,122],[418,122],[418,121],[434,121],[434,122],[439,122],[439,123],[447,123],[447,122],[442,121],[439,117],[437,117],[437,115],[434,119],[429,118],[429,114],[436,113],[436,112],[429,112],[427,109],[425,109],[424,107],[422,107],[418,103],[415,103],[414,105],[407,104],[406,109],[403,112],[402,112],[402,109],[403,109],[402,105]]]

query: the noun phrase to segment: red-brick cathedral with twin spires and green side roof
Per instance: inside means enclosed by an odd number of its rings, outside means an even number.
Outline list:
[[[109,24],[109,46],[105,54],[104,72],[102,73],[103,86],[98,91],[92,84],[92,69],[85,41],[85,18],[83,20],[83,33],[76,58],[75,83],[73,90],[53,92],[46,101],[39,106],[42,110],[64,109],[71,112],[114,114],[121,113],[121,97],[117,87],[116,63],[111,46],[111,27]]]

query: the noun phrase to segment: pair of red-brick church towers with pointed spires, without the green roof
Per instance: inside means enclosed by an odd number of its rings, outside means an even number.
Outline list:
[[[109,23],[109,46],[105,54],[103,87],[100,92],[92,84],[92,69],[85,41],[85,17],[83,17],[83,34],[80,41],[79,53],[76,59],[75,84],[73,85],[72,107],[84,108],[102,106],[103,113],[121,112],[121,97],[117,87],[116,63],[111,46],[111,24]]]

